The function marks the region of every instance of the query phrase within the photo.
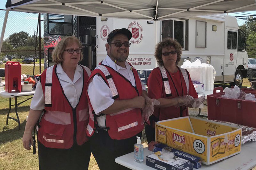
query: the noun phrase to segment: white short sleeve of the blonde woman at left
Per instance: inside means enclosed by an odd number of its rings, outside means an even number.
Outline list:
[[[36,83],[36,91],[32,98],[30,108],[33,110],[44,109],[44,93],[43,93],[43,89],[40,81]]]

